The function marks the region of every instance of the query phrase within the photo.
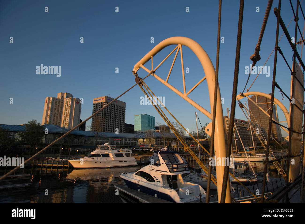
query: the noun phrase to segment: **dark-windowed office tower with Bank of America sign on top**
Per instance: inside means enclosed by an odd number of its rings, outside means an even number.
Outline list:
[[[111,102],[114,98],[103,96],[93,99],[92,114]],[[125,133],[125,108],[126,103],[116,100],[92,117],[92,131]]]

